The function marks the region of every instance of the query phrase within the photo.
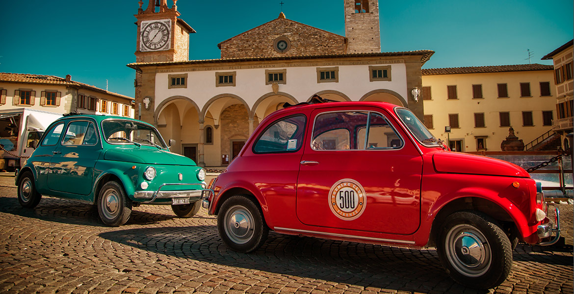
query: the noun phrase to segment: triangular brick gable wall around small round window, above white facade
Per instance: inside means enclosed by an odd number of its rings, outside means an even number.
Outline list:
[[[278,37],[290,41],[284,53],[273,49]],[[219,44],[221,58],[344,54],[345,38],[285,18],[277,18]]]

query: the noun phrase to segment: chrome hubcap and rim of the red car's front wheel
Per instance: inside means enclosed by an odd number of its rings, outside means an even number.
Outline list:
[[[484,234],[472,225],[454,226],[445,240],[448,261],[468,277],[483,275],[492,262],[490,245]]]

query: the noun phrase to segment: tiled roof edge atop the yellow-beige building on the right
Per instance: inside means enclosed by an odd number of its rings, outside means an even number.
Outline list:
[[[453,75],[459,73],[487,73],[487,72],[523,72],[526,70],[552,70],[554,66],[544,64],[517,64],[517,65],[491,65],[491,66],[465,66],[461,68],[425,68],[423,76]]]

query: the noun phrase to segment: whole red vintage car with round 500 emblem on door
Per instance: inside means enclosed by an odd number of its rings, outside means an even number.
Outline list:
[[[317,103],[316,103],[317,102]],[[264,119],[203,200],[238,252],[278,233],[409,248],[435,246],[474,288],[501,284],[518,240],[560,236],[521,167],[451,152],[409,109],[313,99]]]

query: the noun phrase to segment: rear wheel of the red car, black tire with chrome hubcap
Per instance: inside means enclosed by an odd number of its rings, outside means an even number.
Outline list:
[[[259,248],[269,233],[259,206],[243,195],[232,196],[223,202],[217,226],[223,242],[232,250],[243,253]]]

